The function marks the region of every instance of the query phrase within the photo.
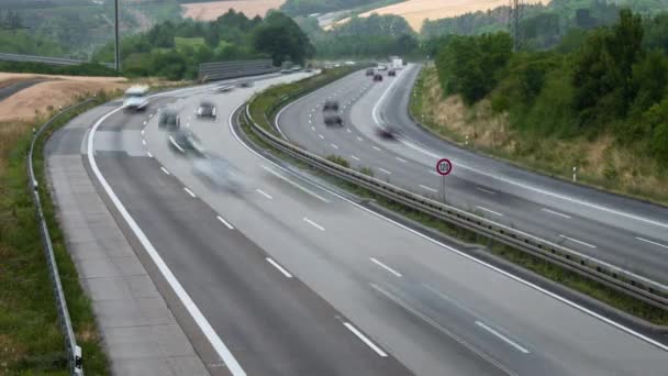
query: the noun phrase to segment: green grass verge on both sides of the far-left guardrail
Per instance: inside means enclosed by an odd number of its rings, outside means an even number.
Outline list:
[[[47,187],[43,150],[49,135],[107,100],[100,92],[94,101],[58,118],[38,139],[34,168],[40,187]],[[64,336],[27,187],[30,130],[40,128],[48,117],[0,128],[0,374],[5,375],[68,375]],[[109,374],[90,299],[65,247],[47,189],[41,189],[41,199],[86,374]]]

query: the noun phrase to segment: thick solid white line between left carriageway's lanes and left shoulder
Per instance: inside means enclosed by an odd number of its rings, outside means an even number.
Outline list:
[[[204,317],[202,311],[200,311],[200,309],[197,307],[194,301],[192,301],[192,298],[190,298],[190,295],[188,295],[188,292],[181,286],[181,284],[178,281],[178,279],[176,278],[174,273],[171,273],[171,270],[169,269],[169,266],[167,266],[165,261],[160,257],[159,253],[153,246],[153,244],[151,243],[151,241],[148,240],[148,237],[146,236],[144,231],[142,231],[142,229],[135,222],[135,220],[132,218],[132,215],[130,215],[130,213],[127,212],[127,210],[125,209],[125,207],[123,206],[121,200],[118,198],[115,192],[111,189],[111,186],[109,185],[109,183],[107,181],[104,176],[102,176],[102,173],[100,172],[100,168],[98,167],[98,164],[96,163],[94,151],[93,151],[93,139],[94,139],[96,131],[98,130],[100,124],[102,124],[102,122],[104,122],[112,114],[116,113],[118,111],[120,111],[122,109],[123,109],[123,107],[119,107],[118,109],[110,111],[109,113],[107,113],[105,115],[100,118],[93,124],[92,129],[90,130],[90,133],[88,135],[88,147],[87,147],[88,163],[90,164],[90,168],[93,172],[93,174],[97,177],[100,185],[102,186],[102,188],[104,189],[104,191],[107,192],[107,196],[109,196],[112,203],[116,207],[116,209],[121,213],[121,217],[123,217],[123,219],[125,220],[125,222],[127,223],[127,225],[130,226],[132,232],[135,234],[135,236],[138,239],[140,243],[142,243],[142,245],[146,250],[146,253],[148,254],[148,256],[151,256],[151,259],[153,261],[153,263],[156,265],[156,267],[158,268],[160,274],[165,277],[165,280],[169,284],[169,286],[171,287],[171,289],[174,290],[176,296],[181,300],[181,302],[183,303],[183,307],[186,308],[188,313],[190,313],[190,316],[192,317],[192,319],[194,320],[197,325],[200,328],[200,330],[202,331],[202,333],[204,334],[207,340],[209,340],[209,343],[211,343],[211,346],[215,350],[216,354],[221,357],[221,360],[223,360],[223,362],[227,366],[227,369],[230,369],[230,373],[234,376],[245,376],[246,373],[244,372],[242,366],[238,364],[238,362],[236,361],[234,355],[232,355],[232,353],[230,352],[230,350],[227,349],[225,343],[221,340],[221,338],[218,335],[218,333],[213,330],[213,328],[211,327],[211,324],[209,323],[209,321],[207,320],[207,318]]]

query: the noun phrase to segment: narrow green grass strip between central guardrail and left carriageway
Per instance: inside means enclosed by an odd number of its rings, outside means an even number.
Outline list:
[[[288,92],[283,92],[283,95],[288,95]],[[272,126],[268,121],[268,119],[271,119],[271,117],[267,113],[269,113],[270,111],[275,111],[274,108],[276,103],[271,102],[269,98],[263,98],[263,96],[264,93],[260,93],[252,103],[254,104],[254,108],[252,107],[254,112],[252,113],[255,113],[253,118],[254,120],[263,119],[264,121],[258,123],[268,130],[272,130]],[[274,96],[272,98],[276,99],[277,97]],[[292,97],[292,99],[294,98],[297,98],[297,96]],[[258,114],[260,118],[257,118]],[[444,235],[468,243],[481,244],[486,247],[487,252],[490,252],[491,254],[502,259],[511,262],[520,267],[531,270],[549,280],[556,281],[572,290],[582,292],[589,297],[598,299],[613,308],[622,310],[647,322],[657,325],[668,325],[668,312],[665,310],[656,308],[639,299],[621,294],[605,285],[584,278],[576,273],[548,263],[539,257],[530,255],[525,252],[513,248],[503,243],[490,240],[488,237],[480,236],[472,231],[455,226],[448,222],[424,214],[413,208],[397,203],[392,200],[385,198],[383,196],[377,195],[366,188],[359,187],[347,180],[323,173],[322,170],[312,167],[305,164],[304,162],[297,159],[279,150],[276,150],[268,143],[264,142],[252,131],[250,124],[247,124],[245,123],[245,121],[243,121],[243,117],[241,129],[245,133],[245,135],[258,147],[267,150],[276,157],[286,161],[303,170],[308,170],[309,174],[318,176],[323,180],[329,181],[330,184],[333,184],[339,188],[343,188],[360,198],[375,200],[375,202],[380,204],[381,207],[397,212],[401,215],[404,215],[405,218],[421,223],[430,229],[438,231]],[[336,159],[341,164],[347,163],[347,161],[341,156],[329,156],[329,158]]]

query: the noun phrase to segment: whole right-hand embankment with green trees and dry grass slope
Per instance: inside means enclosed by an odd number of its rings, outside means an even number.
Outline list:
[[[547,175],[668,203],[668,13],[513,52],[505,33],[452,36],[411,109],[454,142]],[[424,118],[423,118],[424,117]]]

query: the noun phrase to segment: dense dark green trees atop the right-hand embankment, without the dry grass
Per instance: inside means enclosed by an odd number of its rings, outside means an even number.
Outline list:
[[[436,59],[444,91],[468,103],[491,98],[522,132],[616,136],[668,165],[668,14],[617,22],[577,48],[512,53],[510,35],[454,36]]]

